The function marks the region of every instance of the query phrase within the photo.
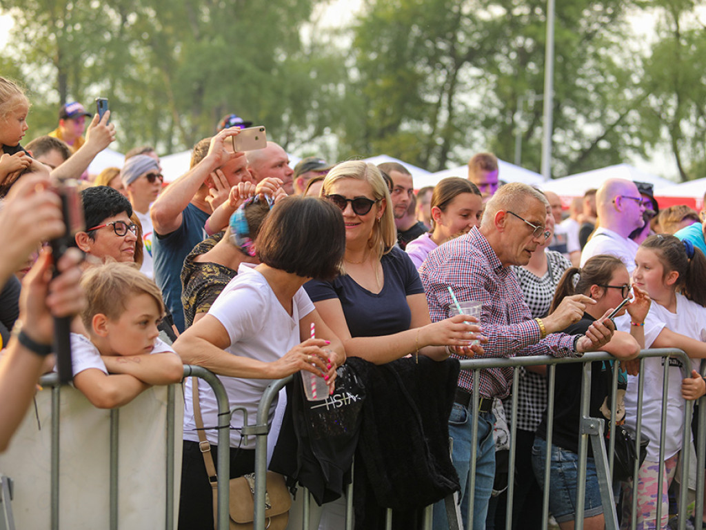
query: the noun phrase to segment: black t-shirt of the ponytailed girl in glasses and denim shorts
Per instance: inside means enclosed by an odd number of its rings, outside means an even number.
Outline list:
[[[594,322],[590,314],[584,313],[576,324],[568,326],[564,333],[570,335],[585,334]],[[552,443],[578,453],[578,440],[581,432],[581,379],[584,363],[566,363],[556,365],[556,385],[554,387],[554,434]],[[597,360],[591,363],[591,400],[590,416],[603,418],[600,408],[609,395],[612,375],[608,361]],[[537,436],[546,440],[546,411],[542,423],[537,428]],[[592,456],[591,445],[588,454]]]

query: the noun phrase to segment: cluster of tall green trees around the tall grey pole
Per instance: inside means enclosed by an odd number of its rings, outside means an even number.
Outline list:
[[[626,1],[557,2],[555,172],[622,161],[630,142],[633,61]],[[539,170],[546,1],[370,1],[356,33],[369,134],[360,148],[441,169],[491,149]],[[525,101],[522,109],[518,103]],[[520,111],[520,112],[518,112]]]

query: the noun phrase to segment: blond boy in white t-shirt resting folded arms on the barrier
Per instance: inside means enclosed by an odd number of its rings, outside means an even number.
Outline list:
[[[153,384],[181,381],[179,355],[157,335],[164,302],[155,282],[130,264],[85,271],[88,338],[71,334],[73,384],[98,408],[129,403]]]

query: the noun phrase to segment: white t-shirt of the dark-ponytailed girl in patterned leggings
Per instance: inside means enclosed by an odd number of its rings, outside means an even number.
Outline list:
[[[630,316],[626,314],[616,319],[618,328],[629,331]],[[706,307],[688,300],[683,295],[676,295],[676,312],[652,302],[650,312],[645,319],[645,347],[650,348],[662,329],[706,341]],[[700,359],[692,359],[692,367],[698,370]],[[681,449],[681,430],[684,420],[684,399],[681,397],[681,360],[669,360],[669,391],[666,399],[667,416],[664,439],[664,458],[668,459]],[[647,445],[647,460],[659,461],[659,427],[662,422],[662,382],[664,358],[645,359],[645,368],[640,377],[645,377],[645,390],[642,394],[642,432],[650,438]],[[638,376],[628,375],[628,389],[625,396],[626,425],[635,428],[638,411]]]

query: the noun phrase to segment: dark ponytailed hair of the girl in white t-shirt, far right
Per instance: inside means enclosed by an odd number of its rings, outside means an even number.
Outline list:
[[[678,273],[675,286],[681,294],[706,307],[706,257],[700,249],[688,240],[666,234],[651,235],[640,247],[654,251],[665,276],[671,271]]]

